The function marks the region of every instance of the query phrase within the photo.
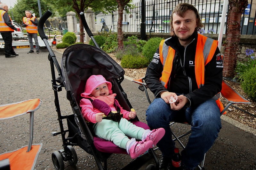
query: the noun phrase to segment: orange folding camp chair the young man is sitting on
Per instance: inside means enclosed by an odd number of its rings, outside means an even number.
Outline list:
[[[146,93],[146,97],[148,99],[148,103],[151,103],[151,100],[149,98],[148,95],[148,91],[147,91],[147,84],[145,82],[145,78],[141,78],[141,79],[133,79],[132,80],[135,83],[139,84],[139,89],[141,91],[145,91]],[[228,83],[222,79],[222,90],[220,92],[221,96],[226,99],[227,101],[227,105],[224,107],[224,109],[221,111],[220,116],[223,114],[226,114],[226,110],[228,109],[229,106],[231,106],[232,104],[239,104],[239,103],[244,103],[244,104],[250,104],[251,102],[249,102],[248,100],[246,100],[243,96],[241,96],[235,89],[233,89],[231,86],[228,85]],[[242,110],[240,108],[238,108],[239,110]],[[242,110],[244,111],[244,110]],[[245,112],[245,111],[244,111]],[[247,112],[245,112],[247,113]],[[188,131],[180,136],[177,136],[174,131],[172,130],[171,126],[175,123],[180,123],[180,122],[171,122],[170,123],[170,129],[172,132],[172,135],[174,137],[173,141],[178,141],[179,144],[181,145],[181,147],[185,148],[185,146],[182,144],[181,142],[181,138],[187,136],[188,134],[190,134],[192,131]],[[182,124],[187,124],[186,122],[182,123]],[[188,125],[188,124],[187,124]],[[154,150],[157,150],[158,148],[155,148]],[[204,154],[204,160],[205,160],[205,154]],[[204,160],[202,161],[201,166],[198,166],[199,169],[202,169],[204,167]]]

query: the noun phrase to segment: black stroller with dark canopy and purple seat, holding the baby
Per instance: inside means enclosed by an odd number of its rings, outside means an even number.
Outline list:
[[[116,99],[119,101],[120,105],[125,110],[131,110],[132,106],[121,87],[121,82],[124,80],[124,70],[115,62],[115,60],[108,56],[107,53],[103,52],[100,48],[97,48],[99,46],[93,38],[92,32],[85,21],[83,12],[80,13],[83,25],[97,47],[86,44],[69,46],[63,53],[60,67],[55,54],[52,52],[51,47],[46,41],[43,29],[45,21],[51,15],[51,11],[46,11],[42,16],[38,23],[38,32],[49,51],[48,59],[51,64],[52,71],[52,89],[54,90],[55,106],[60,124],[60,132],[52,133],[52,136],[61,134],[64,147],[64,149],[54,151],[52,153],[53,164],[56,169],[60,170],[64,169],[64,161],[68,161],[70,165],[76,166],[78,158],[73,146],[77,145],[87,153],[94,156],[99,169],[107,169],[107,159],[112,153],[127,154],[127,152],[110,141],[94,137],[89,126],[84,121],[78,103],[81,100],[81,93],[84,92],[86,80],[93,74],[101,74],[107,81],[112,83],[113,93],[117,94]],[[59,74],[57,78],[55,76],[55,68]],[[62,116],[60,111],[58,92],[62,90],[62,87],[67,91],[67,98],[70,101],[73,111],[73,114],[68,116]],[[62,122],[63,119],[66,119],[67,121],[68,130],[64,130]],[[148,128],[148,126],[140,122],[137,117],[135,120],[132,120],[132,123],[143,128]],[[68,133],[67,138],[65,136],[66,133]],[[159,162],[152,148],[149,149],[148,153],[134,159],[123,169],[139,169],[151,158],[155,160],[156,165],[150,164],[147,169],[158,169]],[[104,166],[102,165],[102,162],[104,162]]]

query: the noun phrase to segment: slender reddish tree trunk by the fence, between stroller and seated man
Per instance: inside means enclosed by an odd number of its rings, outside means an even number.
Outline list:
[[[123,37],[123,13],[124,13],[124,6],[122,3],[117,2],[118,4],[118,21],[117,21],[117,45],[118,49],[124,48],[124,37]]]

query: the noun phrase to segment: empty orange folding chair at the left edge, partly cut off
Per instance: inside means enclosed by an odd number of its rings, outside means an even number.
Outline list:
[[[29,99],[23,102],[0,106],[0,120],[9,119],[30,113],[29,141],[27,146],[0,155],[0,169],[28,170],[34,169],[43,144],[32,145],[34,111],[41,106],[40,99]]]

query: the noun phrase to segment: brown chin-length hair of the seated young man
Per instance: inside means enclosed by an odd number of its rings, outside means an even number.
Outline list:
[[[175,6],[174,10],[172,11],[172,15],[171,15],[171,18],[170,18],[170,26],[171,26],[170,32],[171,32],[171,36],[176,36],[176,34],[173,31],[173,25],[172,25],[173,14],[176,13],[178,16],[183,17],[185,12],[187,12],[188,10],[191,10],[191,11],[195,12],[196,24],[197,24],[197,27],[196,27],[195,30],[199,31],[202,27],[204,27],[204,25],[202,24],[201,18],[200,18],[199,14],[198,14],[197,9],[193,5],[191,5],[191,4],[181,3],[181,4],[178,4],[177,6]]]

